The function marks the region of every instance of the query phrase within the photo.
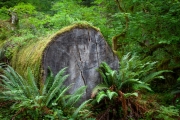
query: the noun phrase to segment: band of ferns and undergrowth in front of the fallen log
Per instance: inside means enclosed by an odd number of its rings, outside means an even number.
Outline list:
[[[165,95],[151,89],[154,81],[165,79],[162,73],[172,71],[154,71],[156,62],[147,62],[130,53],[123,56],[120,63],[119,70],[112,70],[105,62],[101,63],[98,71],[103,82],[93,89],[91,99],[81,104],[79,100],[86,87],[67,94],[73,84],[63,85],[68,77],[64,75],[65,68],[56,76],[49,70],[45,83],[38,85],[30,69],[24,79],[12,67],[1,64],[3,112],[0,117],[4,120],[179,119],[178,99],[173,104],[170,91]]]

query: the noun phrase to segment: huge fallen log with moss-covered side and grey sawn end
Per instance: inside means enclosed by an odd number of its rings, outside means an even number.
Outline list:
[[[54,75],[64,67],[70,76],[66,85],[74,83],[70,93],[86,85],[84,99],[89,99],[92,89],[101,82],[97,68],[107,62],[118,69],[119,61],[104,40],[99,29],[88,24],[65,27],[52,37],[20,47],[13,55],[12,66],[21,75],[30,67],[35,78],[44,82],[48,67]]]

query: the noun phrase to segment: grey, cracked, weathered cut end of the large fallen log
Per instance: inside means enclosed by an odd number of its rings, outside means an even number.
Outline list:
[[[86,85],[85,100],[90,98],[92,89],[102,81],[96,69],[103,61],[113,69],[118,69],[117,57],[98,30],[75,27],[53,38],[44,50],[41,67],[44,76],[47,75],[48,66],[54,74],[68,67],[67,74],[70,76],[65,84],[74,83],[69,92],[73,93]]]

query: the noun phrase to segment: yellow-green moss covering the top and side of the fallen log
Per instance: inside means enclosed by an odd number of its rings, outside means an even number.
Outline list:
[[[93,27],[87,23],[76,23],[62,28],[57,33],[53,34],[50,37],[44,38],[43,40],[29,42],[26,45],[19,46],[13,53],[13,57],[11,60],[12,67],[24,77],[27,76],[26,71],[29,67],[33,71],[36,80],[42,80],[43,69],[41,68],[41,64],[45,48],[47,48],[51,42],[56,40],[59,35],[74,28],[93,28],[99,31],[98,28]]]

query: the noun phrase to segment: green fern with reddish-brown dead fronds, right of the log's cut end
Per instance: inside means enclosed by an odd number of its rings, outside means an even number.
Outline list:
[[[103,82],[93,89],[91,97],[95,98],[97,104],[105,106],[101,109],[104,111],[104,116],[114,114],[112,111],[106,113],[109,108],[119,113],[119,116],[114,115],[113,119],[119,119],[122,116],[127,118],[128,109],[129,114],[134,114],[134,119],[143,116],[145,108],[137,100],[139,93],[144,90],[152,91],[149,83],[157,78],[164,79],[161,74],[169,72],[167,70],[155,71],[156,62],[146,61],[135,54],[128,53],[122,57],[119,70],[112,70],[105,62],[100,64],[98,71]]]

